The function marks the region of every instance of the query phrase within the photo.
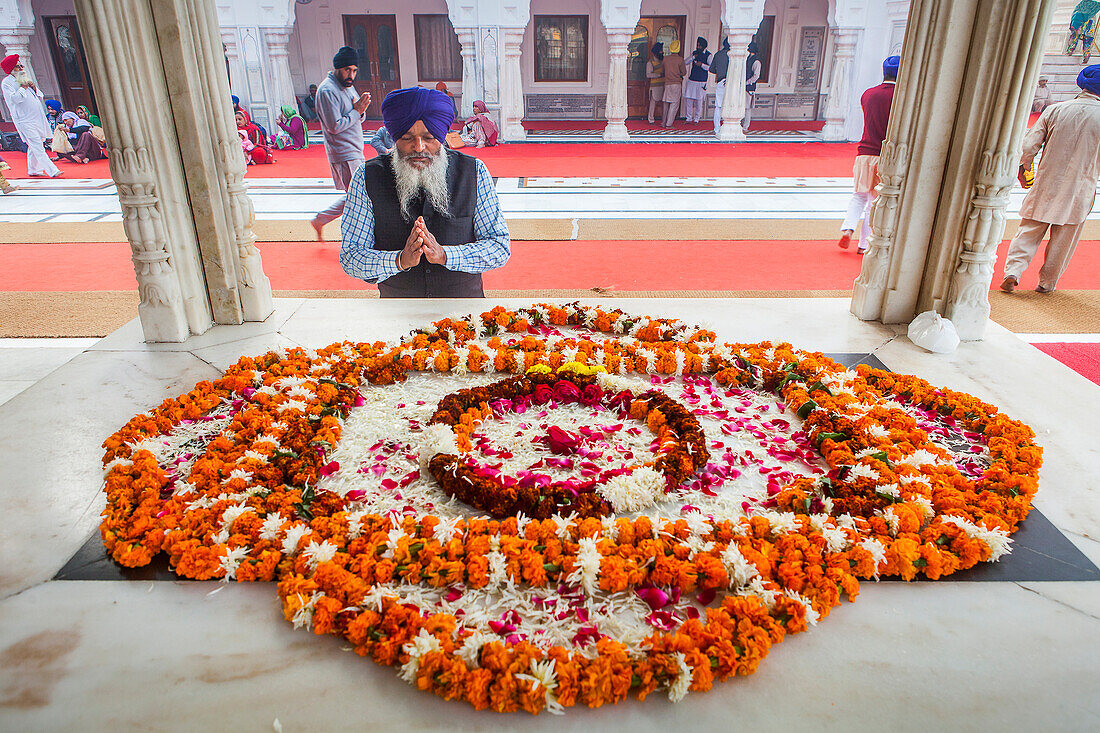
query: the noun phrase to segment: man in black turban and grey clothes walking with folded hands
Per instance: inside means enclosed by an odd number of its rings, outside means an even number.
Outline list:
[[[317,117],[324,136],[324,154],[329,157],[332,183],[346,192],[351,177],[366,160],[363,155],[363,113],[371,106],[371,92],[355,92],[359,54],[343,46],[332,57],[332,70],[317,89]],[[343,214],[346,197],[314,217],[317,241],[321,241],[324,225]]]

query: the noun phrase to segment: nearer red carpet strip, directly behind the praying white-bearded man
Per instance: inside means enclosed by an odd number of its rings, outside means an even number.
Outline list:
[[[339,242],[265,242],[264,270],[278,291],[370,287],[343,273]],[[1008,242],[1002,242],[1004,260]],[[0,244],[4,291],[118,291],[136,286],[130,245]],[[705,262],[706,266],[692,266]],[[676,263],[669,266],[669,263]],[[798,263],[792,266],[792,263]],[[793,291],[847,289],[860,258],[832,242],[627,241],[513,242],[508,264],[486,274],[492,289]],[[1034,287],[1040,263],[1024,275]],[[1059,283],[1066,289],[1100,288],[1100,242],[1081,242]],[[1000,269],[992,286],[1001,282]]]

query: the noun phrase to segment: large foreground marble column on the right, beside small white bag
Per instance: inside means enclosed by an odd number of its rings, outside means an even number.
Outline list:
[[[913,0],[851,311],[934,309],[981,338],[1004,208],[1056,0]]]

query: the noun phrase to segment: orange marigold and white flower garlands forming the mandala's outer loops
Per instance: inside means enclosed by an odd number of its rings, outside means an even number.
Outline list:
[[[617,338],[559,337],[562,326]],[[549,370],[572,362],[610,375],[711,374],[722,385],[773,392],[803,418],[828,474],[798,478],[765,511],[722,521],[561,517],[554,500],[543,508],[513,504],[527,516],[443,522],[358,512],[353,496],[317,488],[336,470],[330,453],[362,404],[361,385],[393,384],[411,371],[497,371],[517,375],[501,384],[518,395],[557,383],[562,372]],[[440,422],[472,424],[488,406],[482,396],[442,401]],[[661,468],[675,480],[706,462],[694,452],[706,445],[684,417],[691,413],[673,407],[653,393],[627,409],[669,431],[675,445]],[[964,467],[968,475],[914,411],[979,436],[988,466]],[[678,700],[751,674],[771,644],[826,615],[842,594],[855,598],[860,578],[936,579],[997,559],[1027,515],[1042,463],[1031,428],[970,395],[866,365],[845,370],[787,343],[722,344],[698,327],[576,304],[444,319],[396,346],[243,358],[221,379],[134,417],[103,446],[100,530],[118,562],[142,566],[165,553],[183,577],[277,580],[296,626],[342,636],[446,699],[532,713],[659,689]],[[640,653],[583,630],[573,647],[540,648],[509,636],[507,621],[499,636],[482,638],[453,614],[428,613],[397,592],[502,583],[557,588],[562,598],[636,592],[668,630]],[[680,594],[697,594],[697,617],[669,614],[688,608],[669,605]]]

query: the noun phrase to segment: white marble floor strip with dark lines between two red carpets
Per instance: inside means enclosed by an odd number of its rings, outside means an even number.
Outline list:
[[[340,195],[330,178],[248,182],[260,220],[310,219]],[[842,218],[851,178],[579,177],[497,178],[509,219],[784,219]],[[1007,217],[1019,219],[1024,192],[1013,190]],[[1090,219],[1100,219],[1093,212]],[[0,223],[121,221],[114,183],[106,178],[20,180],[0,205]]]

